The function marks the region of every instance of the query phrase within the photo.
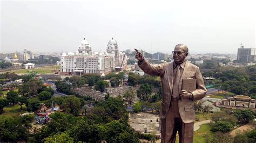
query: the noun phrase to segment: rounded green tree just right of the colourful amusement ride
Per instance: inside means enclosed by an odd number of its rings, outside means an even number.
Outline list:
[[[63,107],[66,112],[69,112],[74,116],[78,116],[82,107],[82,103],[78,97],[68,96],[64,100]]]

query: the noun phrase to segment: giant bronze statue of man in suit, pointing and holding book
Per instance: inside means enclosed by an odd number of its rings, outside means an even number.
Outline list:
[[[161,142],[175,142],[177,131],[179,142],[193,142],[193,125],[195,120],[194,101],[206,95],[203,77],[197,66],[186,60],[188,48],[184,44],[175,46],[174,62],[163,65],[151,65],[136,50],[139,67],[149,75],[160,76],[163,90],[161,103]],[[195,79],[193,91],[182,90],[182,81]],[[191,85],[193,87],[193,85]]]

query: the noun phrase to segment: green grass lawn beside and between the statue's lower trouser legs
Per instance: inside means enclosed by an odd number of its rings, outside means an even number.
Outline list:
[[[195,143],[204,143],[205,135],[209,135],[210,137],[214,134],[214,132],[210,131],[210,129],[214,126],[214,123],[208,123],[200,126],[200,129],[194,131],[193,142]],[[179,137],[176,137],[176,142],[179,142]]]

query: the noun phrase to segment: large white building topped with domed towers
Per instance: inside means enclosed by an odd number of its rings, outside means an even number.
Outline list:
[[[123,61],[124,59],[124,61]],[[91,46],[84,39],[78,46],[76,53],[62,53],[60,56],[60,71],[62,73],[76,74],[109,74],[115,67],[121,65],[125,67],[127,57],[124,53],[119,52],[117,41],[113,38],[107,44],[106,52],[92,52]]]

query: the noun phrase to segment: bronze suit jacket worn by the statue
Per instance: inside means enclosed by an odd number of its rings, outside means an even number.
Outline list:
[[[161,103],[160,116],[164,119],[169,111],[173,91],[173,61],[163,65],[151,65],[146,59],[144,59],[143,62],[140,63],[139,67],[146,74],[161,77],[163,102]],[[197,79],[197,89],[192,91],[193,99],[179,99],[178,105],[181,120],[183,120],[184,123],[191,123],[195,120],[194,101],[203,98],[206,95],[207,90],[199,68],[188,61],[186,61],[183,74],[180,78],[179,92],[181,91],[182,80],[187,78]]]

